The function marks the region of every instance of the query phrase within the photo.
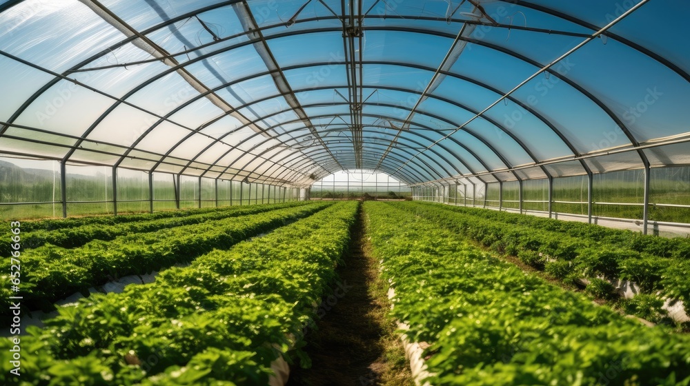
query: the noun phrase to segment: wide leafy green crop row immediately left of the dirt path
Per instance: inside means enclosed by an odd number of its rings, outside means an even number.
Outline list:
[[[22,384],[267,385],[273,360],[304,356],[302,330],[336,283],[356,211],[337,203],[155,283],[60,309],[21,337]],[[9,384],[12,343],[0,347]]]

